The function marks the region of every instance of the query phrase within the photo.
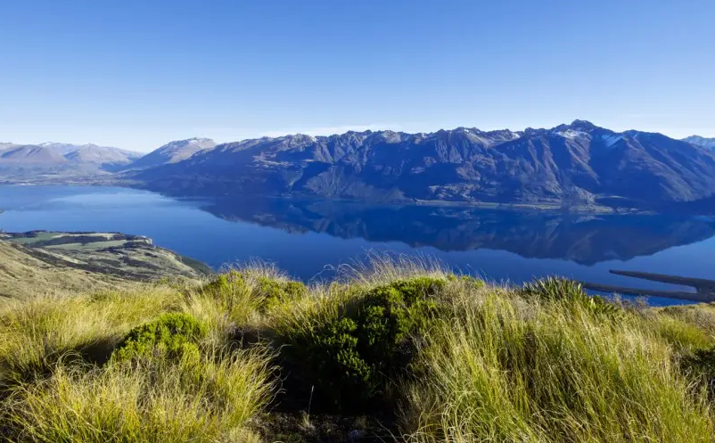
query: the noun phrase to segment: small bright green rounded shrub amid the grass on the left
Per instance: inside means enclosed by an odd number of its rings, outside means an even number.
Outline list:
[[[198,354],[197,343],[206,336],[206,326],[187,314],[164,314],[127,333],[111,355],[111,361],[130,361],[159,354],[181,357]]]

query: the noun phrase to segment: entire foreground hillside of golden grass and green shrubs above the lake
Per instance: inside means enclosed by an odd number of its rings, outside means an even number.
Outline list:
[[[17,442],[710,442],[715,308],[379,262],[0,305]]]

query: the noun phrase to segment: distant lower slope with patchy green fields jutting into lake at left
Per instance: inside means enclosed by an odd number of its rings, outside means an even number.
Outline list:
[[[0,233],[0,297],[103,290],[135,280],[207,273],[202,263],[136,235]]]

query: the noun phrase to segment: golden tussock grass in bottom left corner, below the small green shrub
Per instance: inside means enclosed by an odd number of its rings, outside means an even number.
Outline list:
[[[58,365],[13,393],[18,439],[62,442],[228,441],[272,396],[266,355],[238,352],[111,365]]]

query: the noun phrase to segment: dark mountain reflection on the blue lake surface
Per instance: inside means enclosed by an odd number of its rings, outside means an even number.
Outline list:
[[[403,242],[444,251],[507,250],[580,265],[649,256],[715,235],[710,217],[578,216],[448,206],[367,206],[337,201],[211,201],[216,217],[292,233]]]

